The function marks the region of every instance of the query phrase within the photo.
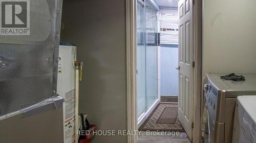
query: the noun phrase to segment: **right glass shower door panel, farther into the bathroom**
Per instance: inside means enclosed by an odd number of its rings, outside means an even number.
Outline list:
[[[146,108],[157,99],[157,10],[145,1]]]

